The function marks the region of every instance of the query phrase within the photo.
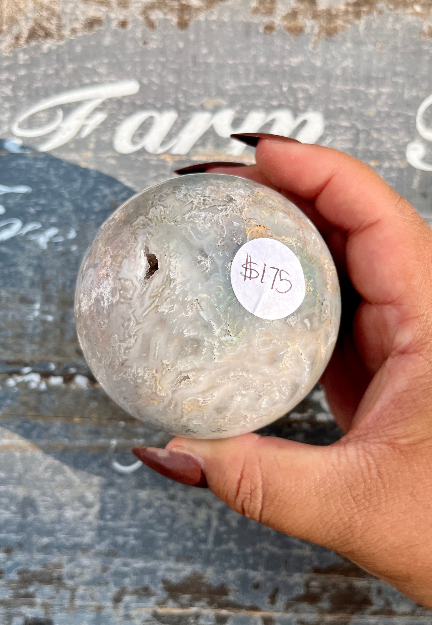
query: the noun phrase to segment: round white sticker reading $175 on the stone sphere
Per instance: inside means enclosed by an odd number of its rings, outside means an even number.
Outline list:
[[[231,264],[231,286],[240,304],[261,319],[283,319],[306,294],[304,274],[294,252],[276,239],[253,239]]]

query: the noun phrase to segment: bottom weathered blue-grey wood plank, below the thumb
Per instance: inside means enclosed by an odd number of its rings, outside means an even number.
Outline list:
[[[0,480],[7,625],[26,611],[54,622],[85,613],[92,624],[265,622],[273,612],[273,622],[430,619],[335,554],[239,517],[209,492],[150,471],[118,476],[105,454],[3,452]]]

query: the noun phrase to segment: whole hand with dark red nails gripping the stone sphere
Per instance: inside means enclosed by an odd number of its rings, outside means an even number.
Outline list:
[[[432,607],[431,229],[371,169],[332,149],[260,139],[256,166],[206,169],[283,192],[326,239],[343,323],[322,382],[346,434],[327,447],[176,437],[168,451],[136,455]]]

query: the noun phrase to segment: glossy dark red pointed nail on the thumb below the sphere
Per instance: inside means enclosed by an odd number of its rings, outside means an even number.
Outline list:
[[[203,461],[188,451],[134,447],[132,453],[153,471],[180,484],[208,488]]]

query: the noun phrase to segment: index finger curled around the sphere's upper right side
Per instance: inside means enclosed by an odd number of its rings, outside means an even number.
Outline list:
[[[259,141],[256,163],[274,186],[314,201],[346,234],[349,277],[366,301],[410,312],[420,306],[432,233],[378,174],[336,150],[273,139]]]

